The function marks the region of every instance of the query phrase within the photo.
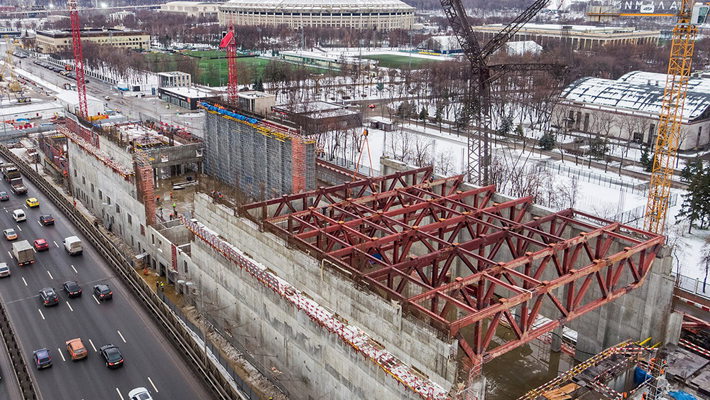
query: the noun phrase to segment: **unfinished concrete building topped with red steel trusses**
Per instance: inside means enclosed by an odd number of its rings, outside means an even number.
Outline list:
[[[580,359],[677,339],[664,237],[381,166],[239,211],[198,194],[181,217],[193,301],[294,399],[455,398],[482,364],[563,325]]]

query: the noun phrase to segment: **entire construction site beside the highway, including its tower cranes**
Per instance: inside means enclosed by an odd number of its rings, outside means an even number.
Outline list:
[[[225,95],[197,102],[204,136],[143,114],[89,112],[76,1],[75,107],[13,151],[113,235],[151,289],[200,315],[203,343],[224,343],[223,367],[249,364],[261,377],[239,380],[250,399],[710,399],[710,322],[694,316],[710,314],[710,300],[679,286],[665,231],[698,6],[679,2],[636,227],[491,183],[492,83],[561,81],[568,67],[488,57],[547,2],[481,45],[461,1],[442,0],[473,77],[461,99],[472,107],[464,173],[382,156],[366,175],[360,161],[352,170],[319,158],[319,134],[359,131],[362,110],[240,97],[232,26],[220,43]],[[607,11],[595,12],[623,16]]]

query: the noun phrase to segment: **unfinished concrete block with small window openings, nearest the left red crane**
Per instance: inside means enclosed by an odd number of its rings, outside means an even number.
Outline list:
[[[102,128],[67,113],[66,151],[45,139],[45,159],[61,161],[72,194],[138,253],[148,248],[146,229],[158,222],[156,183],[161,178],[199,173],[202,144],[178,141],[138,124]],[[59,155],[54,154],[59,152]],[[148,259],[150,263],[152,260]]]

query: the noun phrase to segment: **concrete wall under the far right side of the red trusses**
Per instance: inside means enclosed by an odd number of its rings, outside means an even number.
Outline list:
[[[410,169],[405,163],[387,158],[380,159],[380,166],[382,175]],[[469,185],[464,184],[459,190],[468,190],[467,187]],[[472,186],[470,187],[472,188]],[[507,200],[510,200],[510,198],[496,194],[493,196],[492,202],[500,203]],[[532,206],[528,209],[528,212],[530,213],[528,219],[530,219],[548,215],[551,210],[547,210],[545,207]],[[579,231],[572,231],[569,237],[578,233]],[[469,239],[469,237],[459,237],[459,242],[463,242],[466,239]],[[613,244],[609,254],[621,251],[621,247],[622,245],[619,243]],[[584,262],[586,259],[584,256],[579,258],[577,266],[588,264]],[[510,252],[503,246],[496,254],[494,261],[507,261],[510,259]],[[652,336],[654,342],[677,342],[681,322],[677,318],[671,317],[674,287],[674,281],[670,277],[671,270],[672,257],[670,256],[670,251],[667,247],[663,247],[661,252],[657,254],[643,286],[606,306],[596,308],[596,310],[592,310],[567,323],[566,326],[568,328],[577,330],[578,333],[576,357],[579,360],[586,360],[591,355],[623,340],[644,340]],[[455,271],[458,271],[459,276],[470,274],[466,273],[468,269],[460,262],[456,265]],[[455,271],[452,271],[452,274],[456,274]],[[552,270],[547,271],[546,274],[540,277],[541,281],[555,278],[552,275]],[[622,286],[623,282],[628,281],[628,279],[627,270],[623,272],[620,279],[622,284],[618,287]],[[581,304],[584,304],[588,298],[599,298],[599,293],[598,286],[591,285]],[[558,288],[556,296],[560,300],[564,299],[562,288]],[[550,301],[542,303],[540,314],[550,319],[559,318],[559,311]]]

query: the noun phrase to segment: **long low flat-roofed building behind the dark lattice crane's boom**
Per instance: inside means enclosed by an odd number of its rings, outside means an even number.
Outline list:
[[[491,23],[473,26],[479,40],[491,40],[506,26]],[[660,31],[639,31],[628,26],[557,25],[552,23],[526,23],[510,41],[535,40],[540,45],[551,41],[564,40],[574,50],[591,50],[600,45],[618,44],[658,44]]]

